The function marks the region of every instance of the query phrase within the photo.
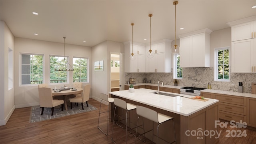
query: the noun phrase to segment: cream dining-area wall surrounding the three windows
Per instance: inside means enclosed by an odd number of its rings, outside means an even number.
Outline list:
[[[73,65],[73,56],[89,58],[89,64],[91,61],[92,48],[86,46],[78,46],[67,44],[68,38],[66,38],[65,44],[65,56],[68,56],[69,63]],[[39,105],[39,96],[38,96],[38,86],[20,86],[20,52],[22,53],[31,53],[31,54],[44,54],[44,83],[49,84],[49,87],[60,88],[63,84],[50,84],[50,65],[49,65],[49,55],[64,55],[64,42],[47,42],[40,40],[32,40],[26,38],[15,38],[15,105],[16,108],[28,107]],[[91,65],[89,66],[89,84],[91,84]],[[68,72],[68,84],[67,86],[72,85],[73,72]],[[83,85],[88,83],[83,83]],[[92,91],[90,92],[92,95]]]

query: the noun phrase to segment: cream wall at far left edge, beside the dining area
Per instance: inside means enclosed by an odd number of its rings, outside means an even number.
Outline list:
[[[3,21],[1,21],[0,29],[0,125],[5,125],[15,109],[14,86],[10,90],[8,89],[8,52],[9,48],[14,52],[14,36]],[[14,56],[12,61],[14,62]]]

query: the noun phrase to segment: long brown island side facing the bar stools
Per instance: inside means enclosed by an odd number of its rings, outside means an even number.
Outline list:
[[[122,98],[122,97],[115,96],[115,95],[112,95],[112,94],[111,94],[111,97],[112,98],[120,98],[122,100],[125,100],[128,103],[139,105],[139,106],[144,106],[144,107],[150,108],[152,110],[155,110],[156,112],[160,112],[162,114],[173,117],[174,118],[174,126],[175,126],[177,144],[181,144],[180,143],[180,139],[181,139],[181,137],[180,137],[180,114],[175,114],[173,112],[168,112],[166,110],[162,110],[162,109],[159,109],[159,108],[148,106],[148,105],[142,104],[140,102],[134,102],[132,100],[128,100],[126,98]],[[122,112],[122,110],[118,108],[118,114],[121,114],[120,112]],[[113,111],[113,114],[114,114],[114,111]],[[113,115],[111,114],[111,116],[113,116]],[[137,118],[138,118],[138,115],[136,114],[136,110],[131,111],[130,117],[131,117],[131,119],[130,119],[131,122],[136,124],[137,123]],[[142,124],[142,118],[139,122],[140,122],[139,125]],[[131,128],[134,128],[133,124],[131,124],[130,126],[131,126]],[[144,119],[144,126],[145,126],[145,131],[152,129],[152,121]],[[168,142],[172,142],[174,140],[174,130],[173,130],[172,121],[161,124],[160,127],[159,127],[159,130],[160,130],[160,134],[159,134],[160,138],[163,138],[164,140],[167,140]],[[139,133],[141,133],[141,132],[142,132],[142,130],[139,130]],[[156,123],[154,123],[154,134],[157,135],[157,124]],[[152,133],[149,132],[148,134],[146,134],[146,138],[148,138],[149,140],[152,140]],[[156,140],[157,140],[157,137],[154,136],[154,142],[157,142]],[[163,141],[161,139],[159,139],[159,142],[163,143]]]

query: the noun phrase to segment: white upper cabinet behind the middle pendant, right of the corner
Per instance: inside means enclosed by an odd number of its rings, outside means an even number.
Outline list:
[[[146,56],[146,72],[171,72],[171,40],[153,42],[152,54]],[[146,46],[146,55],[150,46]]]

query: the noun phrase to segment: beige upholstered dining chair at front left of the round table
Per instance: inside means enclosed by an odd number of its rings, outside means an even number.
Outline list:
[[[64,100],[53,100],[52,99],[52,89],[51,88],[38,88],[39,91],[39,103],[42,107],[41,115],[43,115],[44,108],[52,108],[52,115],[54,107],[61,104],[61,110],[63,111]]]

